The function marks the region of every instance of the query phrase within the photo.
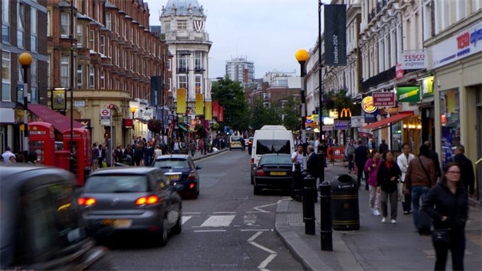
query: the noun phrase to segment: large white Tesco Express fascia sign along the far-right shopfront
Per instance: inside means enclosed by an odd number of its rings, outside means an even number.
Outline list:
[[[482,52],[482,22],[476,23],[445,41],[430,47],[434,69]],[[479,43],[479,44],[477,44]]]

